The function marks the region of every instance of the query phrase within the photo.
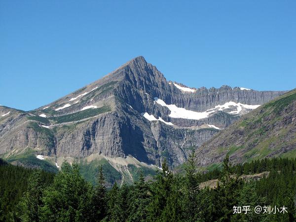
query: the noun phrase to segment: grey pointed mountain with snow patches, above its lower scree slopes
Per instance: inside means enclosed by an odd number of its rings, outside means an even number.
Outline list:
[[[188,88],[167,81],[140,56],[111,74],[33,111],[0,106],[0,154],[133,156],[160,166],[183,163],[243,114],[282,91]],[[8,114],[6,114],[9,112]]]

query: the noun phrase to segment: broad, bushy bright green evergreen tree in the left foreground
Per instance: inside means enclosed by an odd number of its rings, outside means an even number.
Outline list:
[[[79,174],[79,167],[64,163],[62,171],[43,193],[40,221],[87,221],[92,186]]]

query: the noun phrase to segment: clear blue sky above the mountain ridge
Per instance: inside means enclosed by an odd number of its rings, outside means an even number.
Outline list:
[[[191,87],[296,88],[295,0],[0,0],[0,104],[31,110],[143,55]]]

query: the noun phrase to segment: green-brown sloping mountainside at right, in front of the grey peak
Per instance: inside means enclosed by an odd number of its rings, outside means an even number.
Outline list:
[[[244,115],[197,149],[199,165],[296,156],[296,90]]]

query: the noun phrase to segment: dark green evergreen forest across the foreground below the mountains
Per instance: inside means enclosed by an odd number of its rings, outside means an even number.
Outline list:
[[[261,166],[261,167],[259,167]],[[102,168],[95,186],[79,174],[77,164],[62,165],[52,183],[41,171],[30,174],[27,189],[6,221],[111,221],[111,222],[212,222],[295,221],[295,159],[263,159],[231,166],[228,157],[219,171],[215,189],[200,189],[204,175],[198,173],[194,152],[185,164],[185,174],[174,174],[164,161],[162,171],[146,182],[141,174],[134,185],[105,187]],[[246,171],[244,171],[246,169]],[[248,170],[247,170],[248,169]],[[243,172],[270,171],[259,181],[243,181]],[[217,175],[216,175],[217,176]],[[287,207],[287,212],[254,212],[255,206]],[[247,214],[233,214],[234,206],[250,206]]]

